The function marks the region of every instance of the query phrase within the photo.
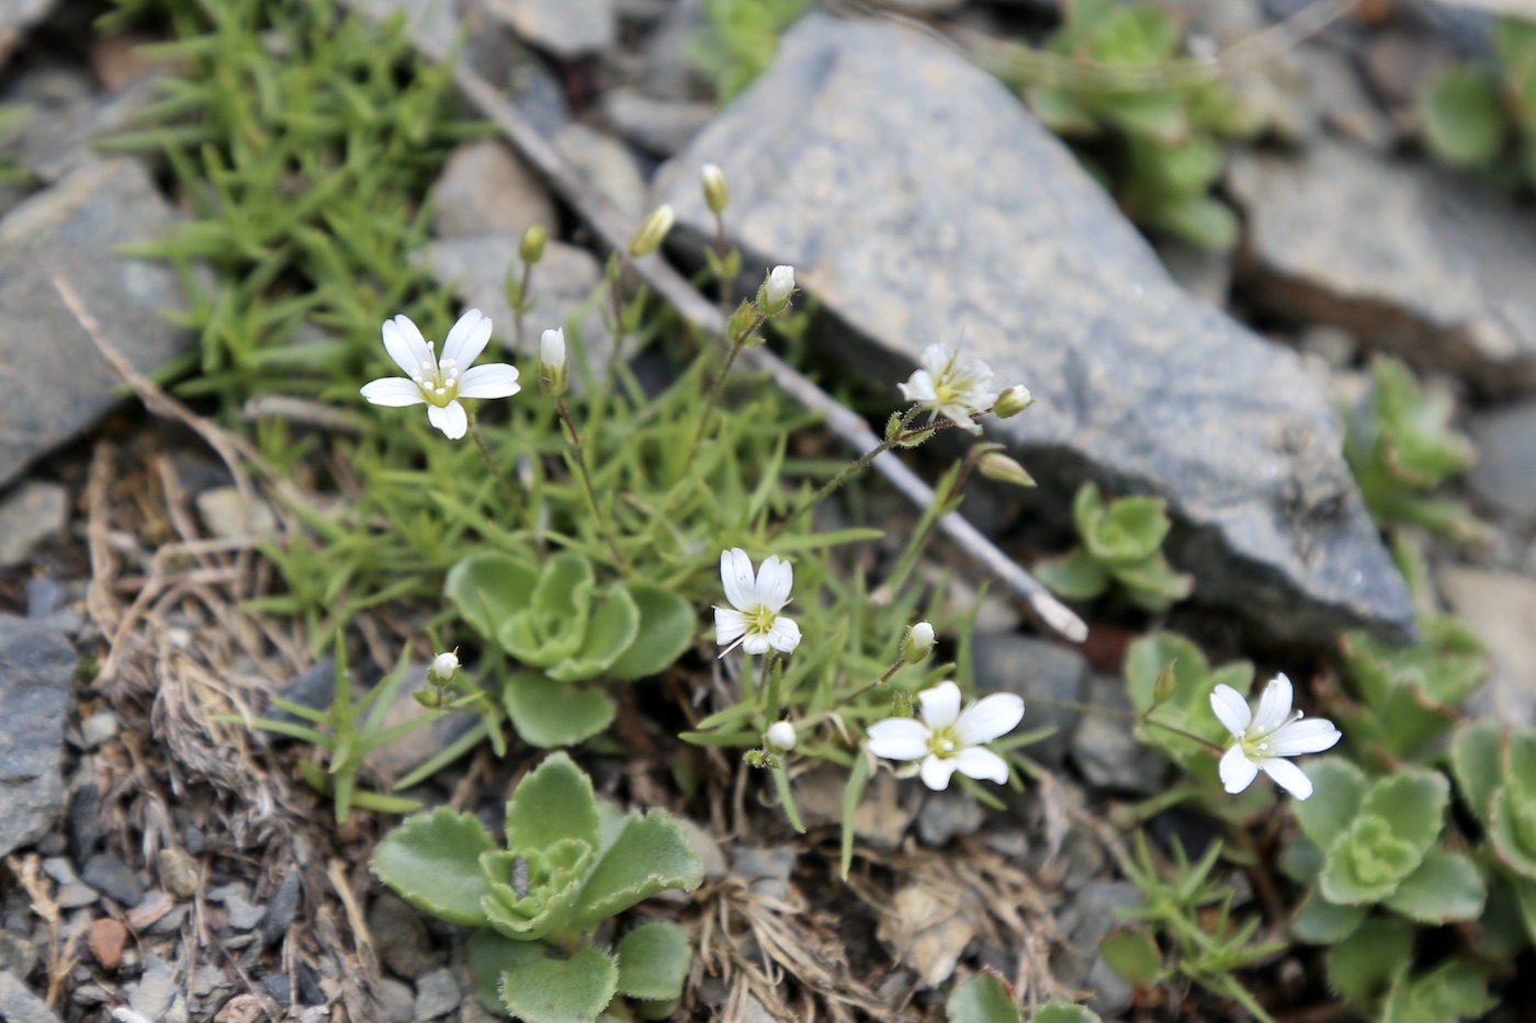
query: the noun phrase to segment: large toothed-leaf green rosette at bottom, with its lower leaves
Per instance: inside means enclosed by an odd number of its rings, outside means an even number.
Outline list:
[[[656,892],[696,888],[699,857],[665,811],[599,805],[562,753],[513,791],[505,848],[473,816],[439,808],[386,836],[372,866],[418,909],[479,928],[475,991],[527,1023],[594,1020],[616,995],[665,1018],[682,997],[693,952],[676,925],[636,926],[611,952],[598,932]]]

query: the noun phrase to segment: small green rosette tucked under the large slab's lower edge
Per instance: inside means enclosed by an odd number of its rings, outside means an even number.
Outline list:
[[[1083,542],[1034,567],[1035,576],[1061,596],[1089,601],[1118,582],[1137,607],[1163,611],[1193,590],[1193,576],[1174,571],[1163,553],[1172,528],[1166,501],[1117,498],[1106,505],[1098,487],[1086,482],[1072,499],[1072,522]]]

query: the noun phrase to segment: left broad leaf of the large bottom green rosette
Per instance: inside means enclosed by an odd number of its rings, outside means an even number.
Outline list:
[[[439,806],[384,836],[370,866],[375,877],[418,909],[481,926],[485,923],[481,899],[490,889],[481,877],[479,856],[495,846],[472,814]]]

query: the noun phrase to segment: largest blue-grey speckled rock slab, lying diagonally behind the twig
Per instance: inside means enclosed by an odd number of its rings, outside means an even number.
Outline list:
[[[664,167],[679,243],[711,232],[703,163],[725,170],[746,266],[794,264],[848,327],[822,350],[894,382],[925,346],[963,336],[1038,398],[989,422],[992,439],[1060,507],[1087,478],[1164,496],[1198,601],[1281,642],[1412,628],[1321,382],[1177,287],[1066,147],[943,43],[800,20]]]

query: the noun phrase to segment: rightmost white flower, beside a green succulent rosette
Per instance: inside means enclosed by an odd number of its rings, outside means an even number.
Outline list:
[[[1264,687],[1256,714],[1230,685],[1218,685],[1210,694],[1210,710],[1236,739],[1221,757],[1221,783],[1229,793],[1241,793],[1264,771],[1296,799],[1312,794],[1312,780],[1284,757],[1332,750],[1342,733],[1326,717],[1303,719],[1301,711],[1292,713],[1290,699],[1290,679],[1284,674]]]

